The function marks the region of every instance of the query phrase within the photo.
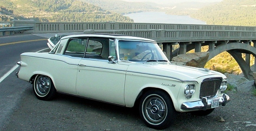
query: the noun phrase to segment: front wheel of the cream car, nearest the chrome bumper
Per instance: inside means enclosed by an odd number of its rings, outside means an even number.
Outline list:
[[[139,113],[146,126],[154,129],[169,127],[176,116],[171,98],[161,90],[149,90],[142,96]]]

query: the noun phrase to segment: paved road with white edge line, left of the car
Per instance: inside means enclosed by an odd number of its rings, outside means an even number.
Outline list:
[[[0,37],[0,127],[8,122],[8,115],[16,108],[25,88],[30,86],[14,74],[20,54],[45,49],[46,42],[47,38],[30,34]]]

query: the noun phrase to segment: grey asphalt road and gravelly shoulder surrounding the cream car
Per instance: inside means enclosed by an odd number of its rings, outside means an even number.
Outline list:
[[[0,37],[0,130],[153,130],[140,120],[137,108],[124,108],[59,94],[52,101],[36,99],[32,85],[15,76],[20,54],[47,48],[46,37]],[[12,43],[15,42],[15,43]],[[165,130],[254,130],[256,97],[228,92],[232,101],[208,116],[178,114]],[[222,117],[225,121],[220,122]]]

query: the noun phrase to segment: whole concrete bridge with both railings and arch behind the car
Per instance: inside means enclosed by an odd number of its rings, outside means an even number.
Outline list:
[[[60,33],[60,32],[101,32],[150,38],[162,46],[167,57],[186,54],[195,49],[199,53],[203,46],[208,46],[209,58],[227,51],[238,62],[244,76],[253,80],[250,69],[250,57],[256,56],[256,27],[197,24],[156,24],[156,23],[73,23],[73,22],[34,22],[13,21],[14,27],[34,27],[25,33]],[[174,49],[174,45],[179,48]],[[242,54],[246,54],[245,59]],[[255,67],[256,68],[256,67]],[[254,69],[256,70],[256,69]]]

